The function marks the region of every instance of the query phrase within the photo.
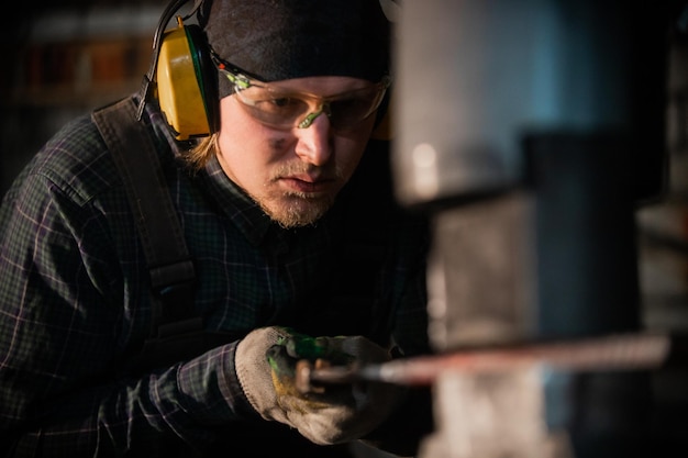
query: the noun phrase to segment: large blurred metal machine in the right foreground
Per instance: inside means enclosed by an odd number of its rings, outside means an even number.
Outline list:
[[[667,7],[402,2],[396,191],[433,221],[429,331],[450,355],[425,372],[437,431],[420,458],[669,446],[651,371],[675,340],[644,340],[633,216],[664,186]],[[518,364],[523,347],[541,358]]]

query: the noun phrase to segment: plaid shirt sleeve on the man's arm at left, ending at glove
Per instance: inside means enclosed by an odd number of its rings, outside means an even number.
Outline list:
[[[90,202],[33,170],[0,211],[0,446],[119,456],[174,432],[200,447],[209,426],[248,412],[235,344],[140,378],[113,373],[131,329],[112,241]]]

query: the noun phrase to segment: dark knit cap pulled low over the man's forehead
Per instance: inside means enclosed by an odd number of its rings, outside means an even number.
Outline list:
[[[221,58],[263,81],[389,71],[379,0],[207,0],[199,22]]]

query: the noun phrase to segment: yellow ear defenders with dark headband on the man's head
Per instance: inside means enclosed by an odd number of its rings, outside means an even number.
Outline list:
[[[177,16],[176,27],[166,30],[187,2],[189,0],[173,1],[160,16],[137,113],[141,119],[148,97],[154,92],[167,124],[180,141],[208,136],[220,126],[218,72],[206,36],[199,25],[182,22],[196,13],[202,0],[196,0],[193,10],[186,18]]]

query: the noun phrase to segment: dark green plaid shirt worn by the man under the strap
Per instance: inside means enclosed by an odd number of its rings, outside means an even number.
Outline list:
[[[90,118],[77,119],[21,172],[0,211],[7,443],[23,437],[30,447],[41,437],[46,456],[96,456],[153,450],[160,434],[174,432],[201,447],[218,426],[252,415],[233,353],[258,326],[377,340],[393,334],[407,354],[426,351],[425,226],[396,217],[403,212],[385,200],[390,182],[366,175],[381,152],[366,154],[321,222],[287,231],[217,159],[190,174],[178,160],[185,145],[168,135],[159,112],[148,108],[145,119],[196,264],[193,306],[207,329],[232,337],[143,376],[113,371],[148,336],[148,273],[112,157]],[[370,292],[367,302],[356,299]]]

